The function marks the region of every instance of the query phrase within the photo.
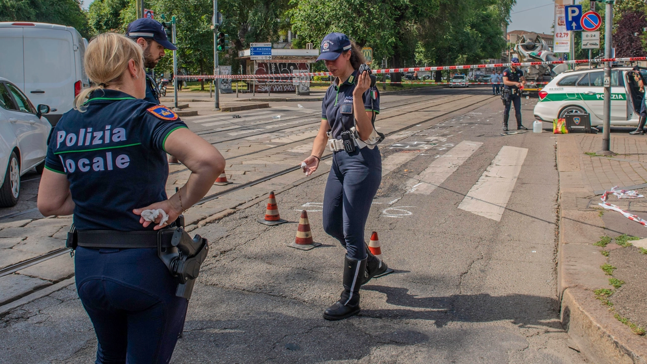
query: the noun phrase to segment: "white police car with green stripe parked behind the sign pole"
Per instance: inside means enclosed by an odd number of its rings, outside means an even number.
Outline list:
[[[637,126],[640,87],[631,76],[631,67],[611,70],[611,126]],[[647,69],[641,69],[643,77]],[[604,69],[584,69],[558,74],[539,91],[534,107],[537,120],[553,122],[567,113],[588,113],[591,126],[604,120]]]

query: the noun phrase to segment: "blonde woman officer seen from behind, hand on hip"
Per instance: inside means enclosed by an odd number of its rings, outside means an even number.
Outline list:
[[[85,52],[95,86],[52,131],[38,194],[45,216],[74,213],[78,231],[76,288],[96,332],[96,363],[168,363],[187,300],[158,257],[158,230],[197,202],[225,160],[173,111],[142,100],[142,48],[115,33],[100,34]],[[192,174],[167,198],[166,153]],[[162,209],[144,221],[142,211]],[[162,231],[164,232],[164,231]]]

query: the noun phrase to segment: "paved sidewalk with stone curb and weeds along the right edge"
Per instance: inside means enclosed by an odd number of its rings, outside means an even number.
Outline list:
[[[558,295],[564,328],[595,363],[647,363],[647,338],[634,334],[628,324],[620,321],[644,322],[642,317],[647,312],[647,302],[642,300],[645,291],[642,277],[647,274],[647,266],[623,267],[624,272],[627,269],[638,271],[633,271],[631,277],[622,276],[626,285],[619,288],[611,286],[609,278],[616,278],[621,269],[615,272],[611,269],[612,275],[601,269],[609,262],[627,261],[623,258],[626,255],[641,260],[641,251],[637,247],[622,247],[621,238],[616,240],[620,245],[609,242],[598,243],[602,247],[593,245],[603,240],[602,236],[647,237],[647,230],[641,224],[618,212],[602,211],[598,205],[604,190],[614,186],[639,192],[646,188],[647,191],[647,137],[613,133],[611,150],[616,155],[611,157],[595,154],[602,149],[602,134],[554,137],[560,177]],[[647,218],[645,199],[611,196],[608,202]],[[609,291],[600,295],[600,289]],[[613,292],[611,297],[609,292]],[[628,292],[633,293],[628,295]],[[619,300],[613,306],[615,293]],[[631,295],[635,297],[628,297]],[[633,307],[636,304],[639,308]],[[635,312],[642,312],[642,315]]]

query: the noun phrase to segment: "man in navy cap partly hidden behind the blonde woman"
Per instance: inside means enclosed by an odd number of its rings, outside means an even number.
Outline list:
[[[162,24],[155,20],[143,17],[128,25],[126,36],[136,41],[144,49],[144,67],[153,69],[162,57],[164,49],[175,51],[177,48],[168,41]],[[144,100],[160,103],[159,89],[153,77],[146,74],[146,98]]]

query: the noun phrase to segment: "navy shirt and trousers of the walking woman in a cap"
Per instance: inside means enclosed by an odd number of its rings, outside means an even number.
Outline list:
[[[322,102],[322,119],[328,120],[331,138],[341,139],[342,131],[355,126],[353,91],[357,71],[341,85],[328,87]],[[362,95],[366,111],[380,113],[380,97],[376,87]],[[323,196],[323,229],[344,245],[347,256],[366,258],[364,225],[373,197],[382,181],[382,156],[377,146],[334,152],[333,166]]]

